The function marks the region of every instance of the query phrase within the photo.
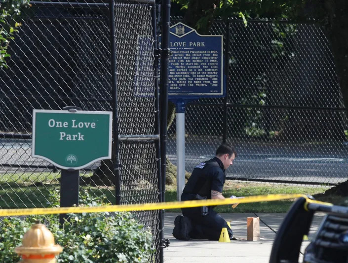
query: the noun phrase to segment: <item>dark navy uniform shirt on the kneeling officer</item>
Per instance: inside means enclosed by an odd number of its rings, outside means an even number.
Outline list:
[[[185,194],[200,195],[211,198],[210,191],[222,193],[226,181],[224,164],[217,157],[196,165],[183,190]],[[186,199],[186,198],[185,198]]]

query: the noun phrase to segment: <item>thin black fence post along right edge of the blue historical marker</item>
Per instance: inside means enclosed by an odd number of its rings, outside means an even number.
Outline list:
[[[223,132],[222,132],[222,143],[226,143],[227,140],[227,121],[229,115],[229,107],[227,106],[229,102],[229,80],[230,80],[230,20],[227,21],[227,34],[225,43],[225,75],[226,75],[226,97],[224,99],[224,115],[223,115]]]

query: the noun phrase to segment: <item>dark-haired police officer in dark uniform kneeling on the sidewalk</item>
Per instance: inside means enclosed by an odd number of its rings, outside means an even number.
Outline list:
[[[183,190],[181,200],[225,199],[222,195],[226,181],[225,170],[233,164],[236,156],[237,153],[231,145],[220,145],[213,159],[195,166]],[[182,208],[184,216],[175,218],[173,236],[181,240],[190,238],[219,240],[222,228],[227,228],[232,238],[232,230],[213,208],[213,206]]]

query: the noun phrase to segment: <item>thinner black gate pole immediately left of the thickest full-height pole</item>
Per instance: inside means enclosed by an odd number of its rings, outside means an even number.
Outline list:
[[[158,59],[159,49],[157,44],[157,19],[156,19],[156,5],[152,6],[152,28],[154,36],[154,85],[155,85],[155,134],[159,134],[159,93],[158,93]],[[160,156],[160,141],[155,140],[156,147],[156,159],[157,159],[157,188],[158,188],[158,202],[162,202],[162,178],[161,178],[161,156]],[[159,251],[157,251],[158,261],[163,262],[163,246],[161,246],[161,240],[164,238],[164,223],[163,223],[163,209],[158,210],[158,236],[156,237],[158,242]]]

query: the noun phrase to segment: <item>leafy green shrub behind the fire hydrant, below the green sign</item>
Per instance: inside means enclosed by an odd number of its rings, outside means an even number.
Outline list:
[[[50,206],[56,207],[56,195]],[[98,197],[100,199],[100,197]],[[85,192],[80,205],[101,205]],[[0,228],[0,262],[18,262],[14,248],[22,243],[24,233],[40,220],[53,233],[56,244],[63,247],[58,263],[147,262],[155,250],[152,234],[145,230],[130,213],[70,214],[59,229],[59,216],[30,216],[23,220],[5,218]]]

